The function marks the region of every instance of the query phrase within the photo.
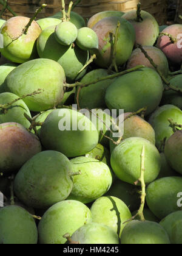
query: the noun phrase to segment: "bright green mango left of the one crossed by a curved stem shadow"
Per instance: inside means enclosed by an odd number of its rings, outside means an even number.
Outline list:
[[[64,244],[66,233],[72,235],[79,227],[92,222],[89,208],[78,201],[66,200],[53,205],[39,222],[39,243]]]

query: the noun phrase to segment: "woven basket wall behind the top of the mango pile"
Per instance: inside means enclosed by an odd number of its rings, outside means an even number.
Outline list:
[[[66,7],[68,7],[70,0],[65,0],[65,2]],[[82,15],[83,18],[90,18],[95,13],[103,12],[104,10],[128,12],[129,10],[136,9],[138,2],[141,2],[143,10],[155,16],[159,24],[166,23],[167,0],[82,0],[74,11]],[[39,18],[52,16],[61,9],[61,0],[8,0],[8,5],[10,5],[14,12],[28,17],[32,17],[35,10],[43,3],[48,6],[39,14]],[[0,5],[1,9],[2,5]],[[10,17],[12,17],[12,14],[6,12],[3,18],[7,20]]]

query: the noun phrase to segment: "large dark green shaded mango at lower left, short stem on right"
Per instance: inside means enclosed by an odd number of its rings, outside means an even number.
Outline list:
[[[43,151],[26,162],[15,177],[15,194],[33,208],[49,208],[72,191],[69,159],[56,151]]]

